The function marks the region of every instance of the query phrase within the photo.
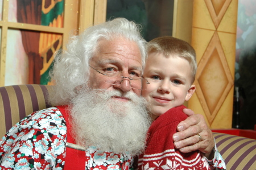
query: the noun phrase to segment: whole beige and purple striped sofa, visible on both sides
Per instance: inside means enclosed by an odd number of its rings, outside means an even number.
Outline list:
[[[26,115],[50,107],[46,100],[50,92],[48,85],[0,87],[0,136]],[[213,135],[227,169],[256,169],[256,140],[218,132]]]

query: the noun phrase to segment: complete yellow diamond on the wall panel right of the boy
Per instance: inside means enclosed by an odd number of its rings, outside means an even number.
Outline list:
[[[196,94],[211,125],[234,84],[217,32],[200,60],[196,74]]]

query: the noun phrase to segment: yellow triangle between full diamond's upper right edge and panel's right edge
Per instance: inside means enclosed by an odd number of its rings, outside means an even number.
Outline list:
[[[236,61],[236,34],[230,34],[226,32],[217,32],[220,38],[222,49],[226,56],[230,73],[234,79],[235,61]]]

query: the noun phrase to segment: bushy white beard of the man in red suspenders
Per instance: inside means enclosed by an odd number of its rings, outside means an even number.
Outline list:
[[[118,101],[112,96],[127,97],[130,101]],[[143,97],[133,92],[85,89],[72,103],[72,134],[77,144],[117,154],[128,151],[138,155],[144,150],[150,118]]]

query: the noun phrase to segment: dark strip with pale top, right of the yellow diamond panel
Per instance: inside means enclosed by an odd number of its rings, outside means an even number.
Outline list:
[[[237,17],[236,73],[233,127],[256,124],[256,2],[240,0]],[[238,102],[236,99],[238,98]],[[238,115],[237,113],[238,112]]]

